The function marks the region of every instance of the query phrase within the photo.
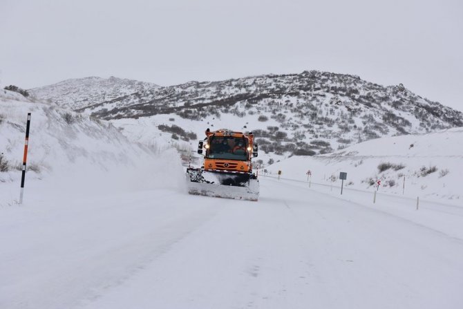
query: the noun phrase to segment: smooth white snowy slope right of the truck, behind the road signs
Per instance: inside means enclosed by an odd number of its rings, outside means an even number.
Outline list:
[[[463,205],[463,128],[422,135],[378,138],[323,156],[293,156],[267,167],[274,176],[341,185],[339,172],[348,173],[346,187],[439,198]],[[405,189],[404,189],[405,179]]]

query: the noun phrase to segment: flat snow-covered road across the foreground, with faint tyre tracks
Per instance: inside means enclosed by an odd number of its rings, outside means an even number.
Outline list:
[[[1,212],[0,308],[463,308],[460,234],[291,182]]]

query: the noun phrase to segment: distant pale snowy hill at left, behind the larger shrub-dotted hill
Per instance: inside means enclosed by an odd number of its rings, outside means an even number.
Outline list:
[[[158,88],[158,85],[111,76],[109,78],[66,79],[57,84],[32,88],[28,92],[34,97],[53,102],[64,108],[81,109],[88,105],[111,101],[118,97],[155,88]]]

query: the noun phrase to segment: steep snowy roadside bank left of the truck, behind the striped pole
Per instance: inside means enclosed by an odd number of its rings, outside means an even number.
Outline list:
[[[182,174],[168,147],[129,141],[111,122],[32,102],[0,91],[0,204],[12,203],[19,190],[27,113],[32,113],[26,188],[39,182],[73,193],[121,190],[162,183],[152,174]],[[43,181],[40,181],[43,180]],[[76,189],[78,188],[78,189]],[[27,190],[27,189],[26,189]],[[26,194],[27,196],[27,194]]]

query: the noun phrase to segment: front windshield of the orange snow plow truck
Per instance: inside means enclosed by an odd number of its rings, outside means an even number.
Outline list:
[[[247,160],[245,138],[212,136],[209,140],[209,159]]]

